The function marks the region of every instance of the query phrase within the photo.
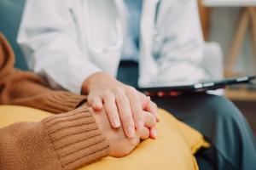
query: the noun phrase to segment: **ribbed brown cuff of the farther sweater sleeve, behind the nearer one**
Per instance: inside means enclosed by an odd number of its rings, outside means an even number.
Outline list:
[[[71,94],[64,91],[54,91],[42,99],[44,111],[63,113],[73,111],[86,101],[86,96]]]

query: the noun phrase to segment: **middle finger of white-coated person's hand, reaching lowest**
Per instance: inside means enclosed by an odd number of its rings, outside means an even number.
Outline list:
[[[120,92],[119,90],[114,92],[114,96],[116,99],[116,104],[118,106],[119,117],[122,122],[125,135],[128,138],[132,138],[135,135],[135,127],[131,114],[129,99],[125,96],[123,92]]]

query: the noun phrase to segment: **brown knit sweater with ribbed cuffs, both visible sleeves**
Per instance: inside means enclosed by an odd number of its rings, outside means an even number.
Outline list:
[[[13,50],[0,33],[0,104],[58,115],[0,128],[0,170],[75,169],[108,156],[108,141],[90,108],[79,107],[86,96],[54,91],[41,77],[14,69],[14,63]]]

